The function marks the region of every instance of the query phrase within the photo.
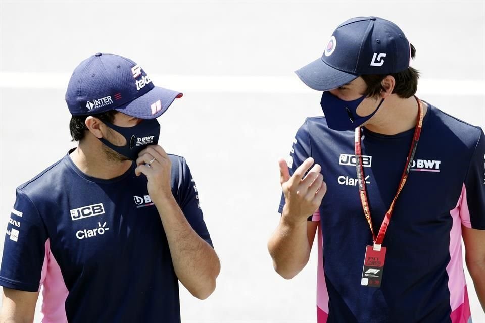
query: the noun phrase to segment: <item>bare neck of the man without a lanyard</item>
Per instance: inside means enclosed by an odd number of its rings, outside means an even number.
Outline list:
[[[95,142],[92,138],[85,138],[70,154],[74,165],[88,176],[105,180],[121,176],[128,171],[132,164],[131,160],[112,160],[108,158],[101,145],[101,142]]]

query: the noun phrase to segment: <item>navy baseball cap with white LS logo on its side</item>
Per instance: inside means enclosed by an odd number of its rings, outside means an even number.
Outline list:
[[[364,74],[392,74],[410,66],[403,31],[379,17],[356,17],[335,29],[321,58],[295,71],[309,87],[328,91]]]

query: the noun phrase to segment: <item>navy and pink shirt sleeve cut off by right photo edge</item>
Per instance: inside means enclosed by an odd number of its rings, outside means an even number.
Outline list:
[[[481,129],[463,183],[461,198],[462,224],[468,228],[485,230],[485,135]]]

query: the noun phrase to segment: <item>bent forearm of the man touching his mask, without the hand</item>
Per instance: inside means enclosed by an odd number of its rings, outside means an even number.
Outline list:
[[[195,297],[205,299],[215,289],[220,262],[214,249],[190,226],[173,197],[154,201],[180,282]]]

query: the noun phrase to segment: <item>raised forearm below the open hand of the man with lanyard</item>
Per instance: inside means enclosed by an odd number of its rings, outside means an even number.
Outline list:
[[[307,221],[290,223],[282,216],[268,242],[268,250],[275,271],[283,278],[293,278],[305,267],[310,256]]]

